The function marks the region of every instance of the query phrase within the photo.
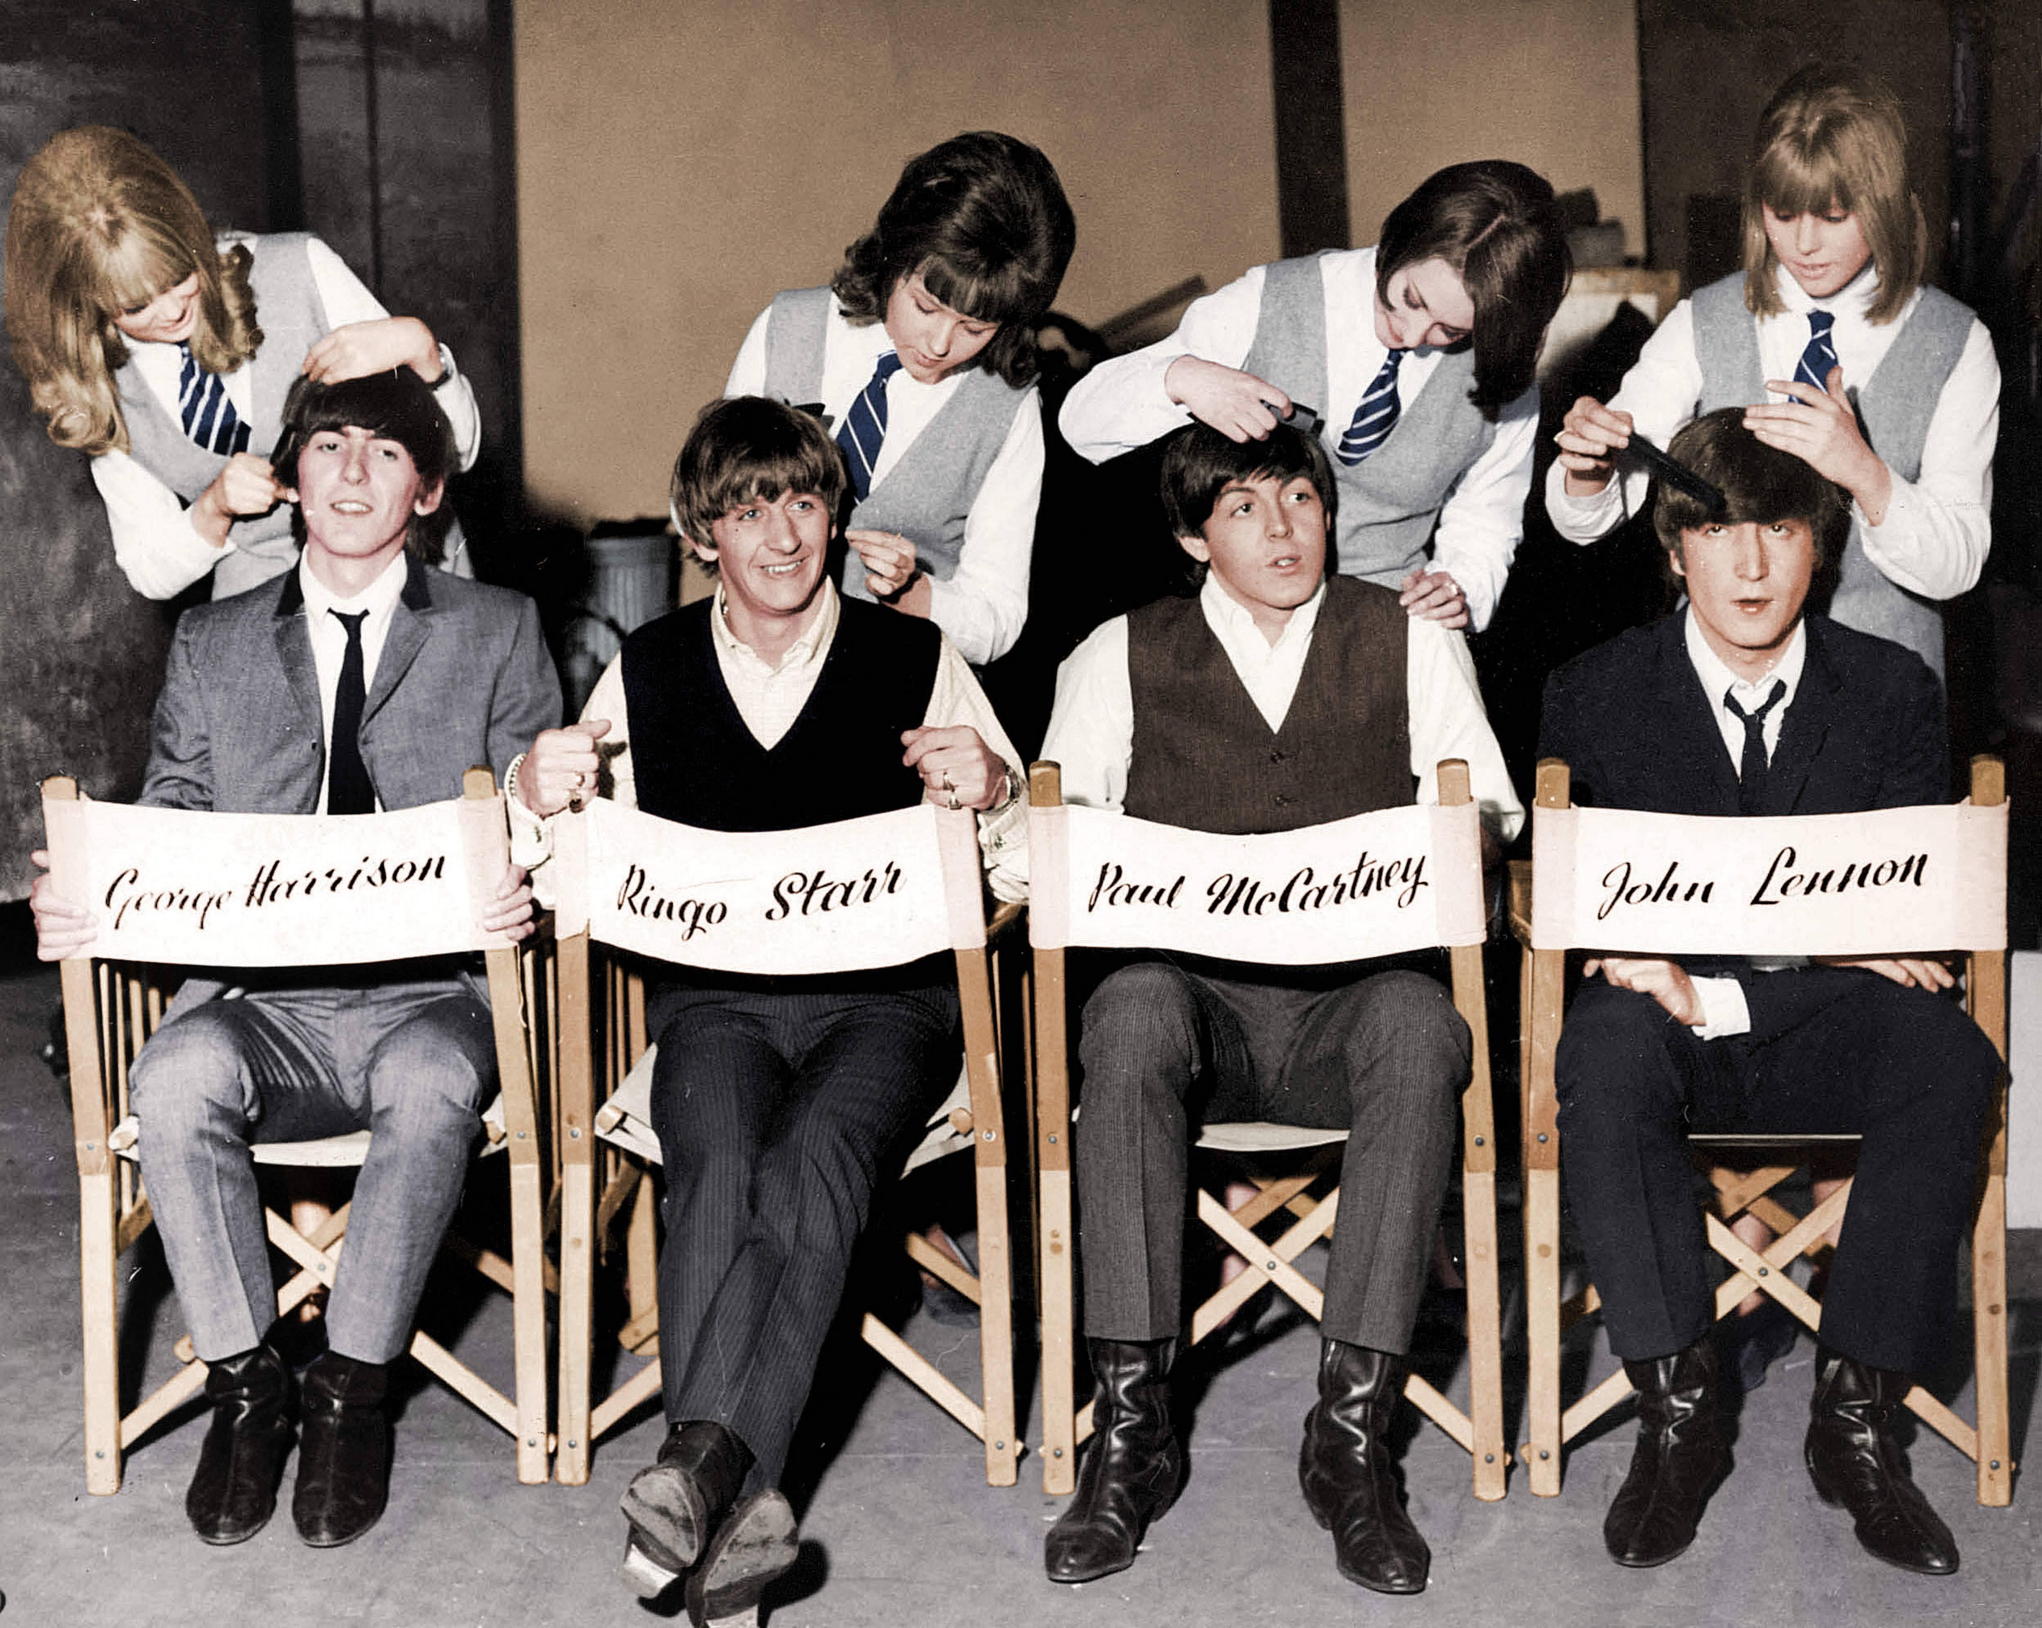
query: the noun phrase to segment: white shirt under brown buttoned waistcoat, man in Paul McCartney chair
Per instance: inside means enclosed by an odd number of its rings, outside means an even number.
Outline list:
[[[1297,611],[1276,643],[1254,625],[1219,578],[1207,572],[1199,609],[1227,654],[1256,711],[1276,729],[1291,711],[1299,674],[1311,650],[1325,584]],[[1301,625],[1303,623],[1303,625]],[[1411,774],[1419,803],[1440,801],[1442,758],[1464,758],[1482,823],[1509,842],[1525,821],[1523,803],[1503,766],[1474,660],[1460,633],[1436,621],[1409,621],[1405,695],[1411,721]],[[1293,637],[1295,635],[1295,637]],[[1056,674],[1056,709],[1041,756],[1062,764],[1064,801],[1090,809],[1121,809],[1133,758],[1135,703],[1127,678],[1127,617],[1101,623]]]

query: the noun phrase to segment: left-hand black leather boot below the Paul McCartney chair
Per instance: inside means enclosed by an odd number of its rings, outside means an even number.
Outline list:
[[[1090,1583],[1135,1563],[1141,1534],[1184,1485],[1184,1450],[1170,1424],[1174,1340],[1088,1340],[1092,1440],[1078,1493],[1043,1546],[1052,1583]]]

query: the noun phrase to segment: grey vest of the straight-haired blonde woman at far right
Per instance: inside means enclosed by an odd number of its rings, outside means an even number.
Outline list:
[[[1738,272],[1695,292],[1695,360],[1701,364],[1699,413],[1717,406],[1748,406],[1766,398],[1766,378],[1758,364],[1758,323],[1744,306],[1744,274]],[[1922,443],[1928,439],[1936,398],[1971,337],[1971,308],[1940,288],[1924,288],[1885,360],[1868,380],[1846,380],[1858,409],[1864,441],[1901,480],[1922,476]],[[1860,525],[1852,521],[1836,592],[1828,611],[1844,627],[1877,633],[1915,652],[1942,678],[1942,607],[1907,592],[1864,556]]]

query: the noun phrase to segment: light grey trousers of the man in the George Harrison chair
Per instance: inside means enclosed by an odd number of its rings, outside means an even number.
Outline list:
[[[494,1079],[490,1009],[459,976],[255,989],[174,1013],[135,1060],[131,1089],[198,1354],[243,1352],[276,1322],[249,1146],[357,1130],[372,1142],[327,1340],[361,1362],[402,1352]]]

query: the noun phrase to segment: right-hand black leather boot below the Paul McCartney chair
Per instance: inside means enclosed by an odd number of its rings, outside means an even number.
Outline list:
[[[1431,1550],[1411,1524],[1387,1444],[1405,1362],[1368,1346],[1325,1340],[1319,1405],[1305,1416],[1297,1481],[1305,1505],[1333,1534],[1340,1575],[1376,1593],[1421,1593]]]

